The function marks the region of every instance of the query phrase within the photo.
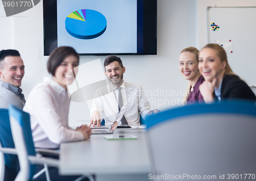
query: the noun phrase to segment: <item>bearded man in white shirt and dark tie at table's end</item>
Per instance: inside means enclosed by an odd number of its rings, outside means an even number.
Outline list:
[[[145,92],[138,84],[123,81],[125,67],[119,57],[110,56],[104,61],[105,75],[112,84],[96,90],[91,110],[90,125],[101,126],[102,119],[105,125],[112,125],[120,112],[119,125],[138,125],[140,115],[152,115],[159,110],[150,110],[150,104]],[[123,109],[122,109],[123,108]],[[120,116],[120,115],[119,115]]]

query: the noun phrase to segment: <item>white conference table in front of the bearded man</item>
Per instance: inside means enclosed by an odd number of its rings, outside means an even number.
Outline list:
[[[110,134],[108,134],[110,135]],[[113,135],[134,135],[137,140],[106,140],[106,134],[60,145],[59,174],[96,175],[96,180],[148,180],[151,173],[146,132],[117,128]]]

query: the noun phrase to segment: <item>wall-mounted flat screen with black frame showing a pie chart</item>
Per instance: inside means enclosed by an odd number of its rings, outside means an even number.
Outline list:
[[[44,0],[44,55],[156,55],[157,0]]]

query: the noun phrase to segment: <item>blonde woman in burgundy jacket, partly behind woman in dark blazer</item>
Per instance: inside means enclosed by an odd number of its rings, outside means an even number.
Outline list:
[[[189,81],[185,96],[187,105],[203,102],[199,86],[204,82],[204,78],[198,70],[198,55],[199,50],[191,46],[184,48],[180,53],[180,71]]]

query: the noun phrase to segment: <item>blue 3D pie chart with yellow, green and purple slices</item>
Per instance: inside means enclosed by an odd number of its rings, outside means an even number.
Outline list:
[[[67,16],[65,26],[67,32],[75,38],[93,39],[105,32],[106,18],[98,11],[81,9]]]

